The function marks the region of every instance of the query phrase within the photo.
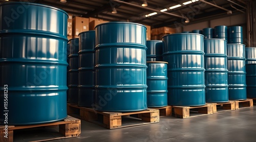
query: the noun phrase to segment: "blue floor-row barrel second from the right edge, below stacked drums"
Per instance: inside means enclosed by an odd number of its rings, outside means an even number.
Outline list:
[[[229,100],[246,100],[245,45],[227,44]]]

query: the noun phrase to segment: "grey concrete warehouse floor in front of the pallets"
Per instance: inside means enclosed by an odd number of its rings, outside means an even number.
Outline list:
[[[81,121],[80,137],[51,142],[60,141],[256,141],[256,107],[186,119],[161,117],[159,123],[113,130]]]

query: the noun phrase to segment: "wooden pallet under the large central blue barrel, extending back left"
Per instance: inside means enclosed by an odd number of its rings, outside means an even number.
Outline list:
[[[73,108],[71,108],[73,107]],[[78,110],[75,110],[78,109]],[[136,112],[101,112],[93,108],[68,104],[69,112],[79,112],[80,119],[104,128],[116,129],[159,122],[159,110],[147,108]]]

